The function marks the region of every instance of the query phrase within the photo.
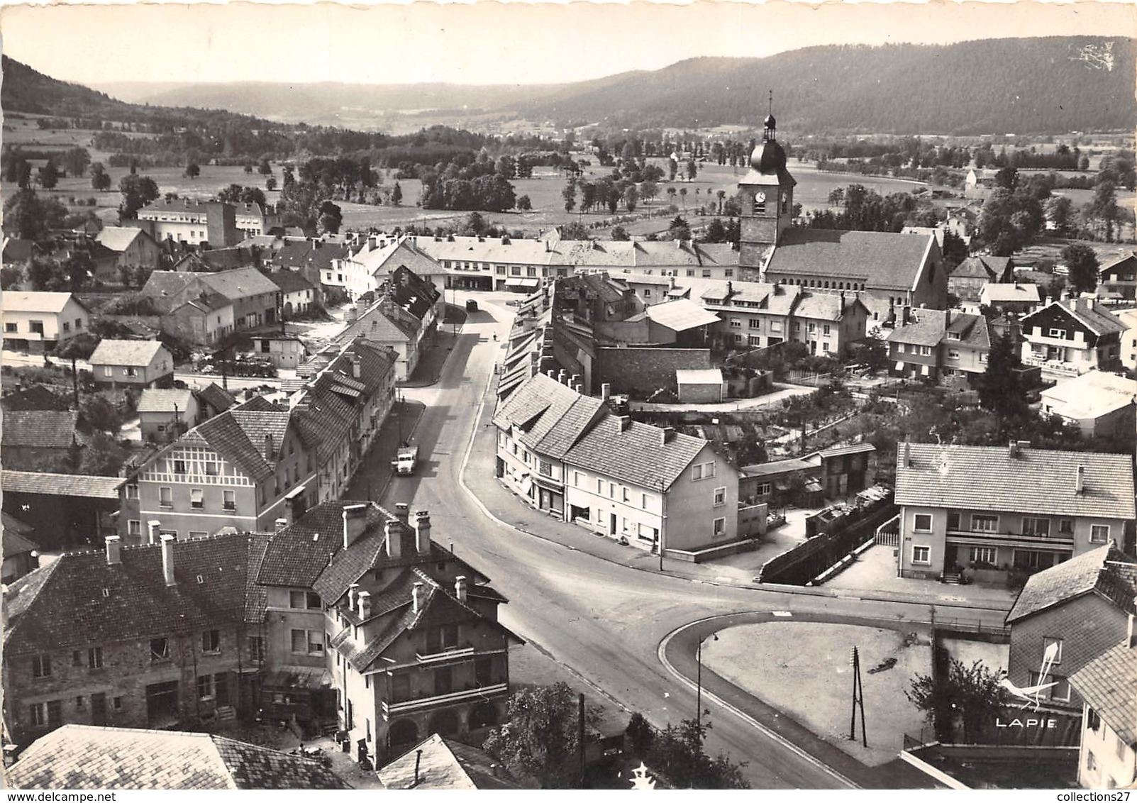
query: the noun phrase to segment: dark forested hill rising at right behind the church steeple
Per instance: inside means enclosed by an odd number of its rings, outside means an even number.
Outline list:
[[[772,89],[779,126],[797,134],[1132,131],[1135,49],[1122,36],[827,45],[690,59],[518,108],[626,127],[758,125]]]

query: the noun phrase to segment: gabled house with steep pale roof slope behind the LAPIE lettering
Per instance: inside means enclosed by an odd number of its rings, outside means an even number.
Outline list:
[[[1080,712],[1084,701],[1071,689],[1070,676],[1124,638],[1135,583],[1137,563],[1111,545],[1031,576],[1006,616],[1011,681],[1020,688],[1054,684],[1040,695],[1046,704]],[[1048,668],[1047,649],[1053,654]]]

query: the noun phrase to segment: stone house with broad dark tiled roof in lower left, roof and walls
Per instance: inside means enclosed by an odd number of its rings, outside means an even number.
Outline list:
[[[3,714],[16,744],[67,723],[169,728],[250,713],[264,539],[69,552],[5,594]],[[85,611],[81,618],[76,610]]]

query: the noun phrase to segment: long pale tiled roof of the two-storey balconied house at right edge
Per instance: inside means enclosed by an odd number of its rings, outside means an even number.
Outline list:
[[[1131,455],[897,444],[896,504],[1132,519]],[[905,463],[911,454],[912,464]],[[1078,466],[1085,467],[1081,494]]]

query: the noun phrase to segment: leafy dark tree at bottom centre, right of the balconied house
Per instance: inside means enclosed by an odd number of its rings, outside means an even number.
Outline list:
[[[506,718],[490,730],[483,750],[515,775],[537,779],[542,788],[580,788],[579,703],[567,684],[514,692]],[[598,721],[599,711],[586,706],[586,743],[599,739]]]

